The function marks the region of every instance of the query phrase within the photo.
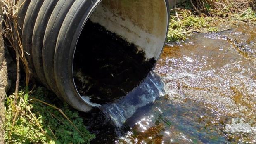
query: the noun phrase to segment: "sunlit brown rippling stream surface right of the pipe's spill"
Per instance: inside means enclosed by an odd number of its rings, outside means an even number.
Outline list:
[[[256,27],[238,24],[221,33],[194,34],[167,46],[156,65],[175,102],[192,99],[211,109],[232,142],[256,142]],[[209,113],[209,111],[205,111]],[[192,123],[194,121],[191,121]]]

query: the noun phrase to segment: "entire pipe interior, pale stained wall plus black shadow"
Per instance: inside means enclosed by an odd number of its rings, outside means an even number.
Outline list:
[[[114,102],[147,76],[168,28],[164,0],[102,0],[79,37],[73,63],[76,88],[91,102]]]

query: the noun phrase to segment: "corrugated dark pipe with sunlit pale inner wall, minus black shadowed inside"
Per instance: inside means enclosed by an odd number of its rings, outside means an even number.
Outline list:
[[[81,97],[73,78],[76,45],[88,19],[136,45],[147,59],[157,60],[168,32],[169,2],[26,0],[21,6],[22,43],[36,78],[75,109],[85,112],[99,106]]]

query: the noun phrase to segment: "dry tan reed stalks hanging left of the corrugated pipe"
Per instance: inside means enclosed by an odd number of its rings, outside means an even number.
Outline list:
[[[28,86],[29,79],[30,79],[30,71],[28,67],[28,62],[26,57],[24,56],[24,51],[21,43],[21,34],[19,33],[19,24],[17,22],[18,19],[18,10],[19,7],[16,6],[18,0],[1,0],[2,2],[2,13],[3,13],[3,37],[5,38],[5,45],[9,48],[12,48],[16,53],[16,87],[15,87],[15,97],[14,97],[14,118],[12,122],[12,128],[9,132],[9,137],[12,133],[12,129],[16,123],[18,113],[21,111],[20,106],[21,102],[24,102],[23,98],[18,94],[19,92],[19,78],[20,78],[20,60],[22,61],[25,72],[26,72],[26,85]],[[19,105],[17,106],[17,99],[19,99]],[[31,112],[31,111],[30,111]],[[33,116],[33,114],[32,114]],[[36,120],[37,122],[37,120]],[[38,122],[37,122],[38,124]],[[41,126],[38,125],[42,130]]]

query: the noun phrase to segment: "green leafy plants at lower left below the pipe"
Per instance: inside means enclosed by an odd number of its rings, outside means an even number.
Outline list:
[[[21,91],[18,99],[14,95],[6,99],[7,144],[84,144],[95,138],[86,130],[76,110],[43,87],[30,95]],[[51,104],[58,105],[61,110]]]

